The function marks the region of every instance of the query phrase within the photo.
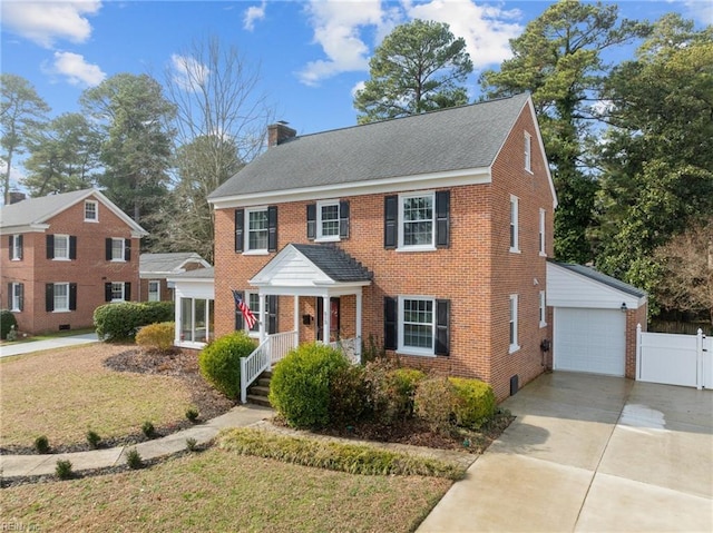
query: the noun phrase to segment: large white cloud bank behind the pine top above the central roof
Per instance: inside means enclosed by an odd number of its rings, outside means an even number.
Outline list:
[[[518,10],[478,4],[475,0],[381,0],[344,2],[311,0],[307,12],[314,28],[314,42],[325,59],[311,61],[299,72],[310,86],[346,71],[367,71],[372,48],[399,23],[413,19],[446,22],[456,37],[466,40],[476,69],[499,65],[511,56],[509,39],[521,33]],[[371,34],[373,42],[365,36]]]

